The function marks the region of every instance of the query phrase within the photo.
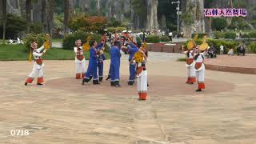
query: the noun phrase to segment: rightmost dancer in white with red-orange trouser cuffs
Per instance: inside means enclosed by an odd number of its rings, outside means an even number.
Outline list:
[[[195,59],[195,74],[196,74],[196,78],[198,79],[198,90],[196,90],[197,92],[202,91],[202,89],[205,89],[205,65],[203,63],[204,58],[205,58],[205,53],[204,53],[205,49],[202,49],[202,47],[199,47],[199,52],[198,54],[196,54],[194,56]]]

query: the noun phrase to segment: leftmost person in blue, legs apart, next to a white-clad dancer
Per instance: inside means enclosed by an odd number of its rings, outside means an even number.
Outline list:
[[[90,60],[89,65],[85,74],[85,77],[82,79],[82,85],[84,85],[85,82],[90,82],[90,79],[93,78],[94,84],[99,84],[98,82],[98,54],[97,49],[99,47],[103,46],[103,42],[99,43],[97,45],[97,42],[95,40],[90,42]]]

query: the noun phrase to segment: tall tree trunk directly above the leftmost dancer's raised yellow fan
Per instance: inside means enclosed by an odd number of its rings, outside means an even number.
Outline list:
[[[54,0],[48,0],[48,18],[47,18],[47,32],[50,34],[50,36],[53,35],[52,29],[53,29],[53,20],[54,20]]]

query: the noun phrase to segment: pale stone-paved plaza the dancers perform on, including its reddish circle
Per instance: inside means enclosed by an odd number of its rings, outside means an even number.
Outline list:
[[[206,90],[196,93],[196,84],[185,84],[182,57],[149,54],[146,101],[126,84],[127,55],[119,88],[81,86],[74,61],[45,61],[45,85],[24,86],[32,63],[0,62],[0,143],[256,143],[256,74],[206,70]]]

